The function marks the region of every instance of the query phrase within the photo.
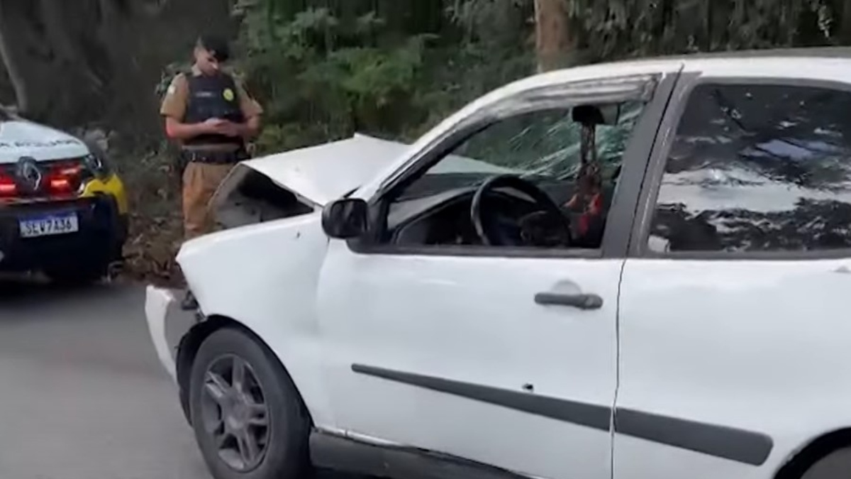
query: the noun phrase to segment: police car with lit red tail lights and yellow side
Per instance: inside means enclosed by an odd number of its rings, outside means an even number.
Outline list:
[[[0,271],[97,280],[127,234],[123,182],[96,143],[0,110]]]

